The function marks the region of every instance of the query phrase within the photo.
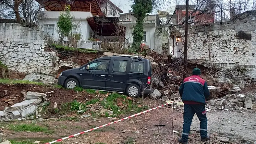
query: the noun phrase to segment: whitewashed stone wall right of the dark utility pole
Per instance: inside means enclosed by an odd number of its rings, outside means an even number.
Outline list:
[[[184,27],[178,28],[184,34]],[[212,23],[189,27],[187,58],[217,67],[213,77],[256,80],[256,21]],[[182,45],[184,50],[184,45]],[[178,53],[178,52],[177,52]]]

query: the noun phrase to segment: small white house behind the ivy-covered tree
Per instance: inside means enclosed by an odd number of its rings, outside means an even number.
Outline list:
[[[149,45],[149,48],[154,49],[154,35],[156,28],[157,15],[149,15],[145,17],[143,23],[144,43]],[[124,13],[120,15],[120,25],[125,26],[125,38],[128,43],[133,42],[133,27],[136,25],[137,18],[133,16],[133,12]]]

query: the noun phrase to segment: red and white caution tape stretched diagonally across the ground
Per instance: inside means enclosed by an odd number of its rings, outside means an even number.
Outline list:
[[[172,102],[171,102],[171,103],[172,103]],[[129,116],[129,117],[126,117],[126,118],[123,118],[123,119],[119,119],[118,121],[114,121],[114,122],[108,123],[108,124],[106,124],[106,125],[102,125],[102,126],[99,126],[99,127],[95,127],[95,128],[90,129],[90,130],[83,131],[83,132],[80,132],[80,133],[78,133],[78,134],[74,134],[74,135],[71,135],[71,136],[68,136],[68,137],[65,137],[65,138],[62,138],[62,139],[58,139],[58,140],[55,140],[55,141],[52,141],[52,142],[46,143],[46,144],[52,144],[52,143],[56,143],[56,142],[59,142],[59,141],[65,140],[65,139],[73,138],[73,137],[75,137],[75,136],[84,134],[84,133],[86,133],[86,132],[93,131],[93,130],[96,130],[96,129],[98,129],[98,128],[102,128],[102,127],[111,125],[111,124],[113,124],[113,123],[117,123],[117,122],[120,122],[120,121],[124,121],[125,119],[132,118],[132,117],[135,117],[135,116],[137,116],[137,115],[144,114],[144,113],[146,113],[146,112],[150,112],[151,110],[161,108],[161,107],[166,106],[166,105],[171,104],[171,103],[167,103],[167,104],[164,104],[164,105],[161,105],[161,106],[157,106],[156,108],[149,109],[149,110],[146,110],[146,111],[144,111],[144,112],[140,112],[140,113],[131,115],[131,116]]]

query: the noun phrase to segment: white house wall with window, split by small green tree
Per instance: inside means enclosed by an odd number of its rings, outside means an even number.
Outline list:
[[[42,27],[45,35],[50,35],[54,38],[54,40],[58,39],[57,34],[57,22],[59,20],[60,11],[44,11],[45,17],[39,20],[39,25]],[[86,20],[87,17],[92,17],[93,15],[91,12],[70,12],[71,15],[74,17],[73,25],[77,23],[81,23],[80,30],[82,33],[81,40],[88,40],[90,37],[91,27]]]

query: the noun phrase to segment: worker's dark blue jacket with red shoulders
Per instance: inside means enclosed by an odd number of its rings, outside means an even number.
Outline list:
[[[199,75],[185,78],[179,92],[184,104],[205,104],[210,96],[207,83]]]

